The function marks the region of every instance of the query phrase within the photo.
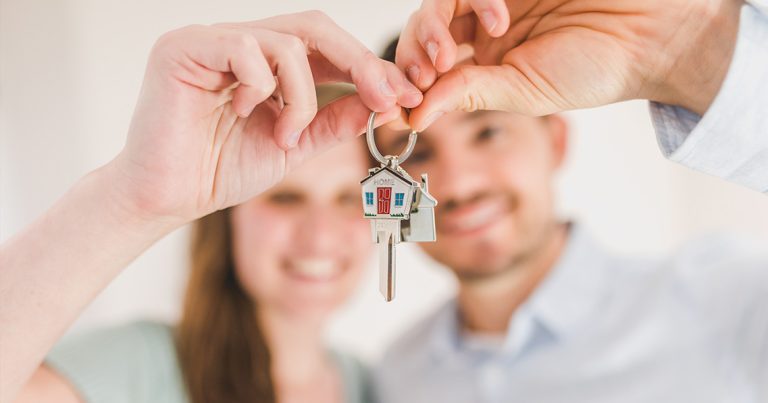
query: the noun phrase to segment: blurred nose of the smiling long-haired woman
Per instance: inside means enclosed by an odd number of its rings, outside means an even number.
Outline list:
[[[295,248],[302,255],[324,256],[343,245],[343,223],[331,206],[316,204],[299,215]]]

